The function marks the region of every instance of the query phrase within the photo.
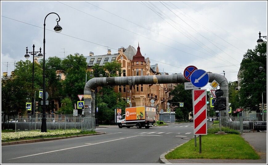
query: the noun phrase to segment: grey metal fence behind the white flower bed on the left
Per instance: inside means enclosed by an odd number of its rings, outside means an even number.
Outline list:
[[[5,119],[5,129],[14,129],[15,131],[30,131],[30,130],[41,130],[42,127],[42,115],[36,116],[35,118],[14,118],[10,120]],[[47,115],[47,130],[67,130],[67,129],[81,129],[95,130],[95,118],[93,117],[82,117],[73,115],[57,115],[54,118],[49,118]],[[2,117],[3,118],[3,117]],[[3,119],[2,119],[3,124]]]

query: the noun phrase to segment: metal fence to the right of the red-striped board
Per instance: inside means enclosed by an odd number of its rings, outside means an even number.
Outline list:
[[[214,118],[212,122],[208,120],[209,131],[223,131],[225,133],[230,133],[234,131],[239,131],[240,133],[250,132],[250,131],[267,131],[267,114],[256,113],[254,117],[250,115],[249,117],[221,117]],[[209,132],[208,131],[208,132]]]

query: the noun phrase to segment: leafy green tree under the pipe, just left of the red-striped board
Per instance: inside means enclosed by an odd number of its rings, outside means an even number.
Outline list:
[[[183,107],[179,108],[179,111],[183,114],[183,120],[189,119],[189,113],[193,115],[193,103],[192,103],[192,93],[191,90],[185,90],[184,84],[178,84],[175,89],[173,89],[170,92],[170,95],[172,95],[172,99],[169,100],[169,103],[172,102],[183,102]],[[172,103],[172,106],[179,106],[179,103]],[[175,111],[176,112],[176,111]],[[179,113],[179,115],[181,114]],[[180,115],[181,116],[181,115]],[[175,115],[176,118],[176,115]],[[179,120],[176,118],[176,120]]]

